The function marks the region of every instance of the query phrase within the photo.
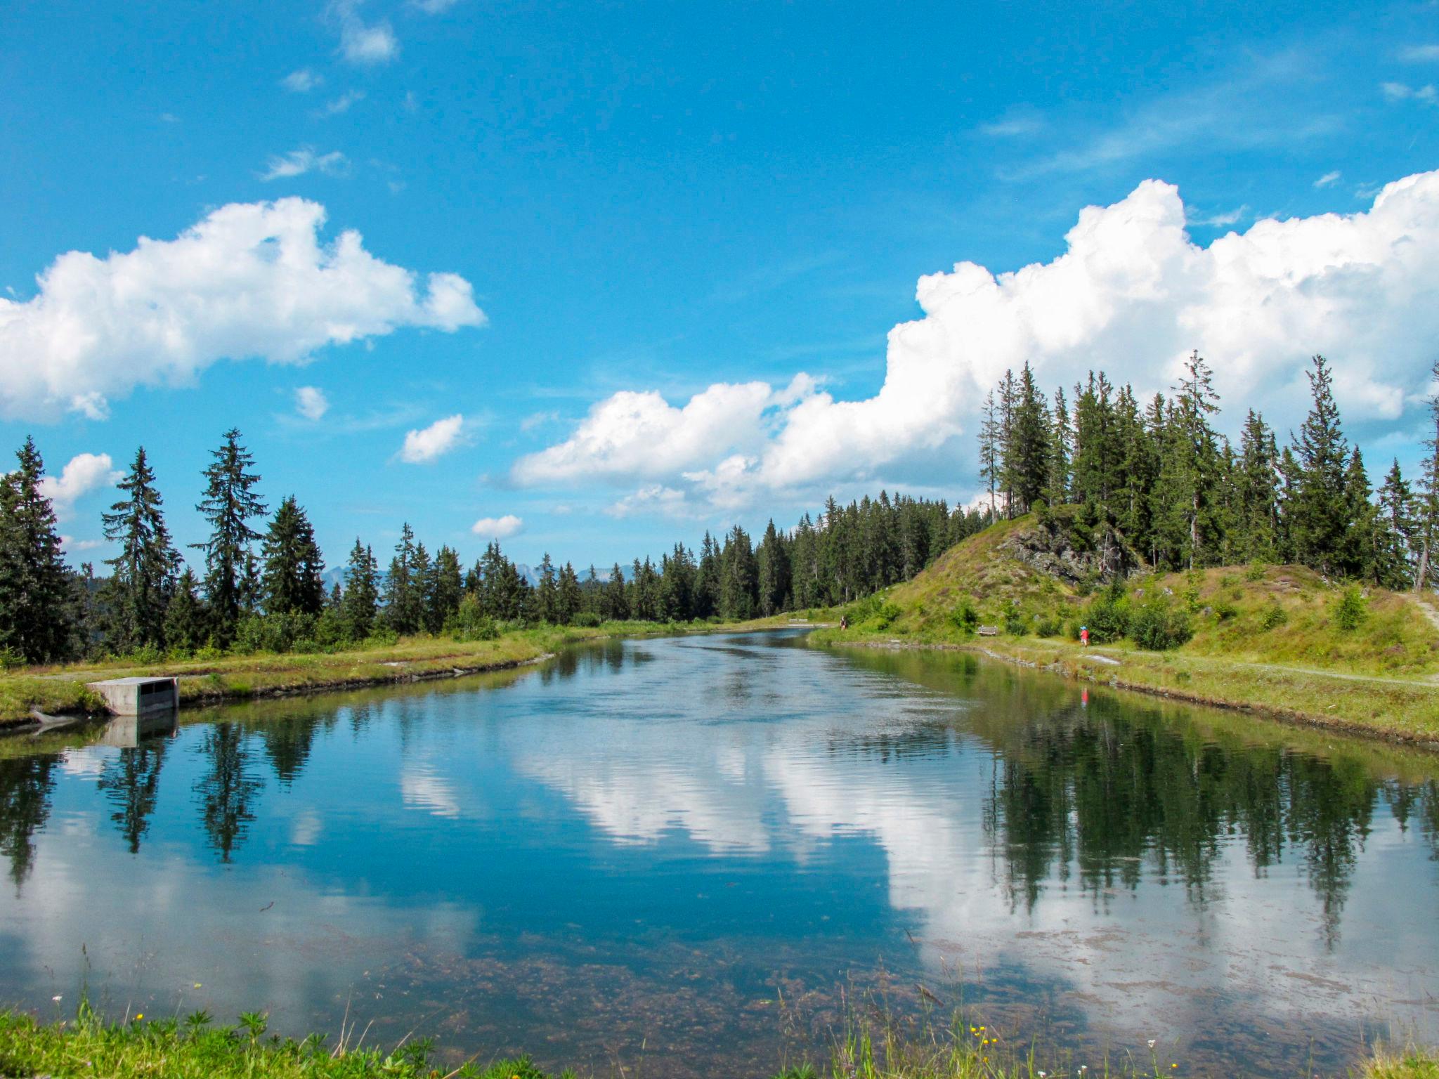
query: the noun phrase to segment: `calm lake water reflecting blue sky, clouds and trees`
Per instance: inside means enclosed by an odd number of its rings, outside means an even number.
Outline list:
[[[1419,751],[793,634],[99,737],[0,742],[0,1003],[42,1017],[652,1075],[823,1059],[876,1001],[1181,1075],[1439,1040]]]

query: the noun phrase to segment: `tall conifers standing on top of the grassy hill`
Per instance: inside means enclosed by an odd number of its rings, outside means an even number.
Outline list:
[[[1091,371],[1069,397],[1062,387],[1048,397],[1029,364],[1006,371],[979,432],[989,512],[1076,504],[1157,570],[1298,563],[1334,578],[1423,588],[1439,524],[1439,396],[1429,401],[1419,483],[1396,459],[1376,491],[1344,434],[1328,361],[1314,357],[1307,374],[1308,416],[1281,449],[1253,409],[1238,447],[1216,430],[1219,396],[1199,352],[1168,397],[1144,404],[1104,371]]]

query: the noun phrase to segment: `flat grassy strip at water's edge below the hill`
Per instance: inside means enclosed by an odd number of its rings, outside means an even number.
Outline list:
[[[1363,686],[1366,683],[1390,685],[1402,691],[1412,691],[1416,693],[1423,693],[1426,696],[1435,696],[1435,705],[1439,706],[1439,686],[1429,686],[1419,682],[1400,682],[1399,679],[1366,679],[1360,676],[1351,676],[1344,673],[1327,673],[1327,672],[1311,672],[1285,668],[1271,668],[1266,665],[1243,663],[1239,660],[1213,660],[1209,657],[1197,660],[1200,665],[1210,665],[1220,670],[1227,678],[1238,676],[1240,686],[1248,680],[1249,685],[1243,686],[1248,693],[1240,692],[1212,692],[1191,689],[1184,685],[1176,685],[1171,679],[1164,679],[1160,682],[1150,680],[1145,682],[1141,678],[1131,676],[1127,673],[1127,663],[1135,662],[1137,653],[1127,650],[1115,650],[1122,659],[1114,659],[1112,656],[1092,649],[1088,653],[1081,653],[1076,649],[1068,649],[1059,646],[1053,642],[1036,642],[1036,643],[1007,643],[1007,642],[993,642],[987,645],[980,645],[977,642],[914,642],[914,640],[852,640],[842,637],[826,636],[816,642],[823,646],[835,647],[866,647],[866,649],[888,649],[888,650],[922,650],[922,652],[964,652],[968,655],[986,656],[1003,663],[1010,663],[1013,666],[1029,668],[1033,670],[1043,670],[1048,673],[1059,675],[1073,682],[1092,682],[1097,685],[1111,686],[1114,689],[1128,689],[1137,693],[1144,693],[1147,696],[1158,696],[1171,701],[1183,701],[1186,704],[1207,705],[1210,708],[1223,708],[1232,712],[1245,712],[1249,715],[1261,715],[1269,719],[1278,719],[1285,724],[1292,724],[1295,727],[1309,727],[1327,731],[1335,731],[1340,734],[1351,734],[1363,738],[1371,738],[1379,741],[1396,742],[1402,745],[1413,745],[1423,750],[1430,750],[1439,752],[1439,721],[1430,719],[1433,725],[1425,725],[1419,729],[1409,729],[1381,718],[1374,721],[1366,721],[1353,715],[1325,715],[1317,711],[1307,711],[1302,708],[1295,708],[1292,705],[1284,705],[1274,701],[1265,701],[1265,695],[1271,695],[1276,689],[1284,689],[1284,679],[1302,679],[1308,683],[1330,683],[1327,691],[1334,691],[1335,688],[1343,689],[1344,695],[1351,695],[1354,686]],[[1046,653],[1046,655],[1038,655]],[[1156,663],[1163,665],[1164,653],[1150,653]],[[1196,663],[1194,657],[1186,657],[1190,665]],[[1163,678],[1164,673],[1156,666],[1141,666],[1135,663],[1132,670],[1141,672],[1141,675],[1148,675],[1151,678]],[[1261,676],[1271,676],[1271,683],[1263,685]],[[1314,692],[1314,686],[1307,686],[1309,693]]]

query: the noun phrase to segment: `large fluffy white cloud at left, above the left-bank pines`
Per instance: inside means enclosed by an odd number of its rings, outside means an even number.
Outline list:
[[[0,298],[0,416],[92,417],[138,384],[184,386],[217,360],[301,363],[400,327],[484,325],[469,282],[374,258],[358,232],[324,243],[325,207],[233,203],[174,240],[59,256],[29,301]]]

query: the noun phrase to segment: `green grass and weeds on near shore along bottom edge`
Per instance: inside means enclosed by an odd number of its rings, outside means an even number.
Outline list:
[[[262,1013],[243,1014],[227,1027],[216,1026],[204,1011],[183,1020],[140,1014],[106,1023],[82,1004],[73,1021],[52,1024],[0,1011],[0,1075],[14,1079],[548,1079],[528,1057],[439,1066],[432,1056],[429,1040],[384,1049],[351,1043],[348,1032],[334,1044],[321,1034],[281,1039],[268,1034]],[[1076,1069],[1063,1053],[1056,1053],[1055,1062],[1045,1060],[1032,1043],[1010,1044],[980,1024],[955,1021],[912,1037],[850,1027],[835,1039],[823,1067],[789,1066],[776,1079],[1043,1079],[1076,1070],[1084,1076],[1138,1079],[1190,1073],[1193,1069],[1176,1056],[1151,1042],[1143,1059],[1125,1056]],[[1301,1073],[1308,1070],[1295,1070]],[[560,1072],[557,1079],[573,1075]],[[1436,1079],[1439,1056],[1413,1046],[1376,1047],[1350,1075]]]

